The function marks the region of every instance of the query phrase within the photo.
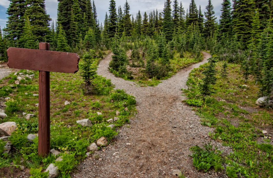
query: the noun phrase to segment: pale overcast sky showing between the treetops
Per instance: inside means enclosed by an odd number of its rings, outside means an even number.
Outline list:
[[[97,8],[98,19],[103,23],[105,13],[107,12],[109,15],[109,1],[110,0],[95,0],[95,5]],[[116,6],[121,6],[123,8],[126,0],[116,0]],[[131,7],[130,13],[136,16],[138,10],[141,11],[141,15],[143,17],[144,12],[147,13],[158,9],[159,12],[163,11],[165,0],[127,0]],[[208,0],[195,0],[197,7],[199,9],[199,5],[201,5],[202,13],[204,14],[206,5],[208,4]],[[185,11],[189,8],[190,0],[182,0],[183,7]],[[215,15],[217,20],[219,20],[219,16],[221,15],[221,0],[212,0]],[[45,0],[47,14],[55,21],[57,18],[57,8],[58,1],[57,0]],[[173,3],[172,3],[173,5]],[[7,8],[9,7],[8,0],[0,0],[0,26],[1,29],[4,28],[7,21]],[[117,8],[118,9],[118,8]]]

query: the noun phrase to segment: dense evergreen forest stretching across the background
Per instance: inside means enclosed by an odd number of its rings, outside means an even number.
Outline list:
[[[90,49],[112,49],[112,72],[130,72],[126,51],[132,50],[134,66],[146,68],[150,77],[162,78],[170,71],[169,60],[179,53],[210,51],[218,60],[241,63],[247,82],[250,75],[261,84],[260,95],[273,89],[273,2],[269,0],[223,0],[219,21],[211,0],[204,14],[194,0],[188,9],[177,0],[166,1],[163,12],[154,10],[135,16],[130,5],[117,7],[100,23],[94,1],[59,0],[58,19],[52,21],[44,0],[10,0],[7,26],[1,30],[1,60],[7,61],[8,47],[37,49],[49,42],[51,50],[83,54]],[[146,58],[146,62],[143,62]]]

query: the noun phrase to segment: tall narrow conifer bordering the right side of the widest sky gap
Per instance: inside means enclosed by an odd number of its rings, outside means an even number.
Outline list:
[[[164,12],[164,20],[162,25],[162,31],[165,33],[166,40],[171,41],[173,39],[173,21],[171,16],[171,1],[166,1]]]

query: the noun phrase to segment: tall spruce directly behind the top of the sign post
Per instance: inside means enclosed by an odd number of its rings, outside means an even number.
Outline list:
[[[45,42],[45,36],[50,33],[49,22],[52,19],[47,15],[44,0],[26,0],[25,3],[28,5],[25,14],[33,26],[33,34],[39,42]]]

